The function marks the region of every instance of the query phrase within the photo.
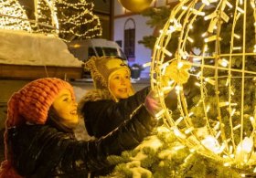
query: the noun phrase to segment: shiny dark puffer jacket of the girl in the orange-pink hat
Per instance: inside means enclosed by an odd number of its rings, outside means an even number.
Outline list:
[[[156,120],[144,107],[99,140],[76,141],[50,125],[23,125],[7,131],[9,155],[17,173],[26,177],[86,177],[109,167],[108,155],[133,149],[152,133]]]

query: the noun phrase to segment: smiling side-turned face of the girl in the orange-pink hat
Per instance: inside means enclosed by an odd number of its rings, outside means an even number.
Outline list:
[[[73,128],[78,123],[78,103],[72,99],[68,89],[62,89],[52,104],[57,111],[60,122],[66,127]]]

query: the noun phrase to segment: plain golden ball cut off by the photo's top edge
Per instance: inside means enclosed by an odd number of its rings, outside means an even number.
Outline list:
[[[149,7],[153,0],[118,0],[124,8],[133,13],[142,12]]]

